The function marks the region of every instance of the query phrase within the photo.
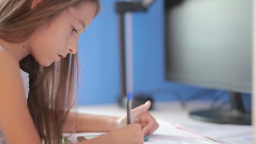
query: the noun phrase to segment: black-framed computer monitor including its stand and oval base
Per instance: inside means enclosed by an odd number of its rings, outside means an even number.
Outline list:
[[[197,120],[251,124],[241,93],[251,93],[252,0],[165,0],[165,76],[227,90],[231,111],[190,112]]]

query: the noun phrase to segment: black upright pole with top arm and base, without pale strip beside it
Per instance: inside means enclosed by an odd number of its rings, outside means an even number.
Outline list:
[[[120,93],[118,96],[118,104],[126,107],[126,72],[125,72],[125,36],[124,36],[124,14],[127,12],[146,12],[150,5],[155,0],[139,0],[139,1],[117,1],[115,3],[115,11],[118,13],[118,26],[119,26],[119,59],[120,59]],[[153,99],[150,95],[137,94],[133,96],[132,107],[137,107],[144,104],[146,101],[151,101],[153,107]]]

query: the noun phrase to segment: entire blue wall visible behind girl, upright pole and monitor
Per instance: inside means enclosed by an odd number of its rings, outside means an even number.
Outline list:
[[[120,86],[115,1],[101,0],[101,13],[80,37],[80,105],[117,101]],[[159,88],[175,90],[186,99],[205,89],[165,80],[163,19],[163,0],[157,0],[147,13],[133,14],[134,92],[145,93]],[[218,93],[220,91],[208,90],[203,98],[212,99]],[[176,100],[168,93],[153,96],[156,101]],[[247,107],[251,107],[250,96],[245,96],[245,101]]]

